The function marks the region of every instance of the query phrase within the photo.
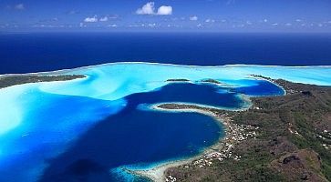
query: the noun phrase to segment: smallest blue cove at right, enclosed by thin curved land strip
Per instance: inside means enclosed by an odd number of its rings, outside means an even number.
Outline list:
[[[253,82],[256,85],[253,86],[241,86],[233,88],[233,92],[241,93],[248,96],[283,96],[285,94],[284,89],[265,80],[247,80]]]

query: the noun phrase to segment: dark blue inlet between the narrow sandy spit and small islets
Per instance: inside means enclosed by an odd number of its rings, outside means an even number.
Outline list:
[[[149,96],[136,97],[136,95],[133,95],[133,97],[135,99],[130,99],[131,96],[128,96],[132,103],[130,106],[133,107],[138,106],[140,103],[152,104],[162,102],[194,103],[227,108],[241,108],[246,104],[238,97],[237,93],[229,92],[229,89],[226,87],[191,83],[172,83],[161,87],[158,91],[150,92]]]

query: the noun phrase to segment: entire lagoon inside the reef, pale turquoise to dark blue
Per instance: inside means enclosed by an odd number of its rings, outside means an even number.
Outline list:
[[[192,157],[224,133],[209,116],[141,106],[181,102],[242,109],[249,106],[243,95],[284,94],[250,75],[331,85],[330,66],[118,63],[41,74],[87,77],[0,90],[0,181],[143,181],[118,169]],[[171,78],[191,83],[166,82]],[[206,78],[224,85],[201,84]]]

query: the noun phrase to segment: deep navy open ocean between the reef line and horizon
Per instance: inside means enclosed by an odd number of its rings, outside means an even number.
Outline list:
[[[331,65],[331,34],[0,34],[0,74],[109,62],[178,65]]]

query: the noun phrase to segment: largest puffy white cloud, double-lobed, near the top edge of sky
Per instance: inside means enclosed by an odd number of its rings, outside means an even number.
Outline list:
[[[158,8],[158,11],[155,12],[154,2],[149,2],[146,5],[142,5],[141,8],[138,8],[136,11],[138,15],[171,15],[172,7],[170,5],[161,5]]]

